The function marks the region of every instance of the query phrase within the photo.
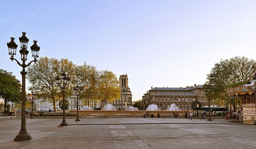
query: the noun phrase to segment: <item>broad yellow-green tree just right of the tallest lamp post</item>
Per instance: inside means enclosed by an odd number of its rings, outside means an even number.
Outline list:
[[[73,74],[73,67],[74,64],[68,59],[41,57],[37,63],[28,67],[28,81],[31,83],[28,89],[33,90],[43,101],[53,103],[56,112],[56,101],[60,100],[61,93],[55,78],[57,75],[61,76],[63,70],[69,75]],[[70,94],[70,89],[67,90]]]

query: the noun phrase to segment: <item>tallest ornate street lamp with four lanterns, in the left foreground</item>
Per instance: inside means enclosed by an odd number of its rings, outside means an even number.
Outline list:
[[[38,58],[38,52],[40,50],[40,47],[37,46],[36,40],[34,41],[34,44],[30,46],[30,49],[32,51],[32,56],[34,57],[34,60],[30,61],[27,65],[25,64],[28,56],[28,38],[26,37],[26,32],[22,32],[22,36],[19,38],[20,40],[20,59],[22,60],[22,64],[15,58],[13,58],[14,55],[16,55],[16,50],[18,45],[14,42],[14,37],[11,37],[11,41],[8,43],[8,50],[9,55],[11,55],[10,59],[13,61],[15,60],[19,66],[21,66],[23,69],[20,72],[22,75],[22,98],[21,98],[21,129],[19,134],[14,138],[14,141],[26,141],[26,140],[32,140],[32,137],[28,134],[28,131],[26,129],[26,74],[28,72],[25,71],[25,68],[28,67],[32,62],[36,63],[36,58]]]

